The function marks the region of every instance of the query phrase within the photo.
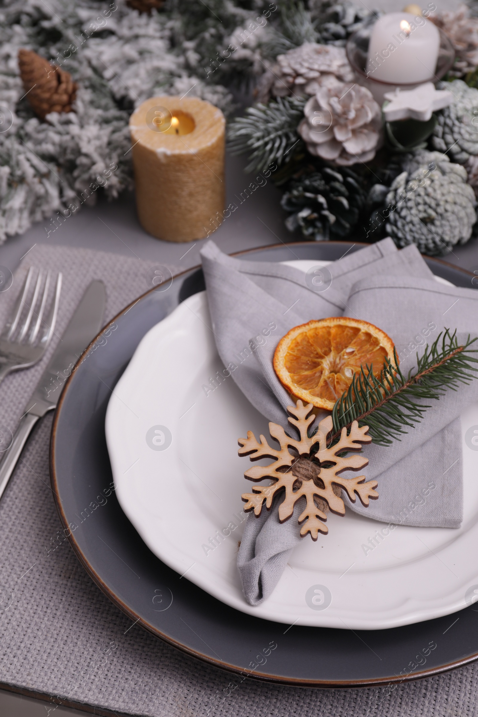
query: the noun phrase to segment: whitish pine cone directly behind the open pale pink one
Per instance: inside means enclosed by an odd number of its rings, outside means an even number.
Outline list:
[[[275,97],[314,95],[324,80],[353,82],[353,70],[343,47],[305,42],[277,56],[271,92]]]

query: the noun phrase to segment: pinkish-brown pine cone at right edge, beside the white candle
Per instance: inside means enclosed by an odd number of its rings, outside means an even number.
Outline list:
[[[478,65],[478,18],[469,16],[469,7],[460,5],[456,12],[442,11],[429,16],[449,38],[457,54],[450,75],[463,77]]]

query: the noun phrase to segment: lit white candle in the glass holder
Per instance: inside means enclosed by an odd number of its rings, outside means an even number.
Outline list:
[[[440,47],[438,28],[424,17],[391,12],[373,25],[368,77],[411,84],[434,78]]]

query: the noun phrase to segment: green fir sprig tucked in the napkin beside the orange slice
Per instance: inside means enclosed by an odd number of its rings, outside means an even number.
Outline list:
[[[405,427],[414,427],[431,408],[424,401],[438,400],[446,389],[456,391],[459,384],[469,384],[477,378],[478,359],[472,353],[478,349],[469,348],[477,338],[468,336],[466,343],[459,345],[457,331],[445,329],[423,355],[417,353],[416,370],[404,376],[398,366],[396,350],[393,361],[386,359],[379,376],[373,375],[373,367],[363,367],[353,376],[348,391],[333,407],[333,436],[336,442],[344,426],[353,421],[368,425],[373,443],[387,446],[400,435],[407,433]]]

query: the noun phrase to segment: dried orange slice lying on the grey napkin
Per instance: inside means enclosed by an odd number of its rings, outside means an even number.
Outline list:
[[[274,371],[292,399],[331,411],[352,383],[360,366],[378,376],[386,356],[393,360],[393,341],[368,321],[347,316],[295,326],[274,353]]]

